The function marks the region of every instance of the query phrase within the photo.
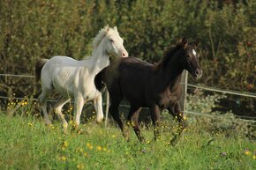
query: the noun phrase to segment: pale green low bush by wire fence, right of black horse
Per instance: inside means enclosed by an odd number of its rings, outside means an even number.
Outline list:
[[[243,122],[236,118],[231,112],[216,111],[216,107],[220,107],[220,100],[225,99],[225,95],[207,95],[204,96],[203,92],[197,91],[193,94],[188,94],[186,102],[186,110],[199,115],[188,114],[188,122],[192,126],[199,123],[204,130],[209,133],[223,133],[230,134],[243,134],[254,136],[255,123],[250,126],[247,122]]]

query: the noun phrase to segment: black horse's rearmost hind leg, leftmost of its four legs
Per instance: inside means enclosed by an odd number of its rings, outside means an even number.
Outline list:
[[[124,137],[127,139],[128,132],[124,128],[124,123],[121,121],[120,116],[119,116],[119,111],[118,111],[118,106],[119,106],[121,100],[122,100],[121,98],[112,98],[110,96],[111,105],[109,107],[109,113],[110,113],[110,115],[112,115],[113,119],[117,122],[119,128],[122,130]]]

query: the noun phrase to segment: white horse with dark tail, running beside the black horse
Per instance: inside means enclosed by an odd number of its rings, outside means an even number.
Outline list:
[[[94,77],[103,68],[109,65],[109,56],[126,57],[128,53],[123,45],[124,41],[117,32],[117,26],[110,28],[105,26],[94,38],[93,55],[89,59],[77,61],[68,56],[54,56],[41,59],[35,64],[36,78],[41,78],[41,95],[39,103],[46,124],[51,124],[47,113],[47,99],[49,94],[55,90],[61,95],[60,100],[53,107],[67,131],[68,123],[62,114],[64,104],[74,99],[74,125],[79,127],[82,107],[87,101],[94,102],[97,113],[96,121],[102,122],[102,93],[94,85]]]

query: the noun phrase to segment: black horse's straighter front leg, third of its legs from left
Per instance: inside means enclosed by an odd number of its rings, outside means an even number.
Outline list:
[[[160,113],[161,109],[157,105],[148,107],[154,125],[154,140],[160,137]]]

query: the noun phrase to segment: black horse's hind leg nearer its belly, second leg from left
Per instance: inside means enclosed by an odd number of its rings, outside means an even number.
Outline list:
[[[144,143],[145,138],[142,136],[142,134],[140,132],[139,122],[138,122],[140,110],[141,110],[141,107],[134,107],[131,105],[130,112],[128,115],[128,122],[132,124],[132,128],[133,128],[136,136],[138,137],[139,142]]]

